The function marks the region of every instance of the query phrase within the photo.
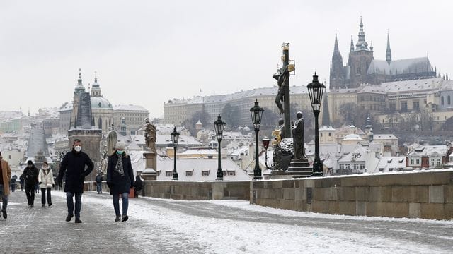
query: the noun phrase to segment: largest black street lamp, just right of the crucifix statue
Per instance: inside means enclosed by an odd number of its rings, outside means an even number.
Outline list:
[[[311,108],[314,114],[314,162],[313,162],[313,176],[322,176],[323,169],[321,166],[321,159],[319,159],[319,125],[318,116],[319,109],[321,108],[321,100],[323,99],[323,92],[326,86],[323,83],[319,83],[318,75],[316,72],[313,75],[313,81],[306,85],[309,90],[309,97],[311,102]]]

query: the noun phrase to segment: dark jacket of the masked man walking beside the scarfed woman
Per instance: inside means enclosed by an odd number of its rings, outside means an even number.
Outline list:
[[[64,155],[57,181],[61,184],[65,175],[64,192],[84,193],[85,176],[88,176],[93,168],[94,164],[85,152],[76,152],[73,149]]]

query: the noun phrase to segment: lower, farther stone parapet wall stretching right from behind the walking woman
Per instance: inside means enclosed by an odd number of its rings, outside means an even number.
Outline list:
[[[219,200],[250,198],[250,181],[143,181],[144,195],[176,200]]]

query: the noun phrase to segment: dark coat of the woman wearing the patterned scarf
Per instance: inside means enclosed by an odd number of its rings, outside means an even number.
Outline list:
[[[115,167],[118,161],[116,154],[108,158],[107,165],[107,185],[110,188],[110,194],[130,193],[130,188],[134,186],[134,171],[132,171],[132,164],[130,156],[125,155],[122,157],[122,168],[125,174],[118,174]]]

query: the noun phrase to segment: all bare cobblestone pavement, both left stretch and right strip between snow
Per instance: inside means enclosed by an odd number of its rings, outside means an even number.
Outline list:
[[[138,217],[128,222],[113,222],[113,207],[106,207],[108,194],[84,193],[82,224],[64,222],[67,215],[64,193],[55,192],[52,207],[41,207],[40,195],[35,207],[26,206],[25,192],[10,195],[8,219],[0,219],[0,253],[212,253],[210,246],[197,243],[193,237],[166,226],[153,225]],[[96,203],[96,200],[100,202]],[[93,202],[94,201],[94,202]],[[101,205],[101,201],[103,205]],[[326,217],[282,217],[268,212],[213,204],[204,201],[176,201],[135,198],[130,204],[161,211],[156,216],[165,219],[165,211],[180,212],[190,217],[226,219],[233,222],[281,224],[333,229],[358,233],[364,237],[398,239],[408,244],[417,243],[438,253],[451,253],[452,224],[423,220],[338,219]],[[130,211],[130,214],[133,211]],[[133,236],[133,237],[132,237]],[[357,239],[360,241],[360,239]]]

